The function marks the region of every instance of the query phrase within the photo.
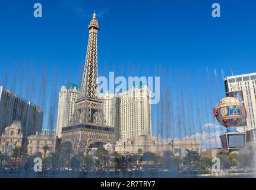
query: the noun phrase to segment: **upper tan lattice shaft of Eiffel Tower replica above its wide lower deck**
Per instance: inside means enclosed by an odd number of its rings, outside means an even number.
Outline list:
[[[99,99],[99,83],[97,80],[97,34],[99,24],[95,12],[88,29],[89,41],[80,96],[75,103],[74,115],[70,124],[96,124],[106,126],[103,114],[103,102]]]

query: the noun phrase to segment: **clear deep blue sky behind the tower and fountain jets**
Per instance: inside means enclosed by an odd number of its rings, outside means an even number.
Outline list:
[[[33,17],[33,5],[36,2],[43,6],[43,18]],[[211,17],[211,5],[214,2],[221,6],[221,18]],[[40,105],[40,102],[44,102],[40,100],[42,97],[39,97],[41,72],[42,67],[46,68],[47,65],[48,94],[45,104],[40,106],[45,109],[43,127],[48,128],[50,102],[56,102],[56,99],[50,98],[55,68],[58,66],[58,80],[57,91],[53,94],[58,96],[64,81],[78,81],[80,65],[81,62],[84,64],[86,56],[87,26],[96,9],[100,25],[99,74],[106,75],[109,71],[115,71],[117,75],[128,77],[132,74],[143,75],[143,71],[148,69],[147,74],[152,76],[155,75],[154,68],[157,66],[157,75],[162,77],[161,86],[164,93],[169,83],[164,72],[159,74],[161,65],[161,70],[166,70],[166,73],[169,68],[172,69],[172,78],[175,81],[173,94],[178,94],[177,89],[184,83],[182,92],[187,96],[186,93],[189,93],[185,76],[189,72],[189,81],[194,84],[200,72],[202,83],[194,87],[198,92],[205,87],[212,93],[211,96],[207,94],[204,97],[198,93],[198,101],[206,99],[204,102],[208,108],[204,106],[204,113],[200,113],[201,122],[194,119],[198,124],[192,133],[202,132],[198,126],[207,122],[214,123],[211,105],[217,103],[217,89],[219,97],[225,96],[222,69],[225,76],[231,75],[232,72],[244,74],[256,70],[255,4],[249,0],[1,1],[0,84],[4,84],[7,73],[7,87],[14,88],[12,90],[24,97],[27,94],[25,89],[33,89],[28,88],[27,84],[37,85],[36,93],[30,93],[32,95],[28,97]],[[29,67],[31,60],[33,67]],[[23,62],[26,62],[24,72],[21,66]],[[121,65],[124,65],[123,70]],[[31,72],[29,74],[32,68],[36,73],[34,76]],[[207,68],[210,83],[206,81]],[[218,88],[213,84],[214,69],[218,75]],[[24,73],[24,77],[21,73]],[[12,85],[15,76],[17,85]],[[182,82],[181,78],[184,79]],[[191,91],[192,102],[197,105],[196,91]],[[173,107],[177,106],[173,103]],[[187,113],[189,106],[184,106],[184,109]],[[157,106],[154,105],[154,135],[157,134],[156,110]],[[196,106],[192,107],[191,112],[196,118]],[[181,118],[182,116],[178,116],[181,114],[176,113],[174,119]],[[185,119],[185,122],[187,120]],[[174,136],[185,135],[191,134],[187,131],[183,135]]]

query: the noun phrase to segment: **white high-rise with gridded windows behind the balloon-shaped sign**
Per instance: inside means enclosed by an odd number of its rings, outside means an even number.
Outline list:
[[[247,119],[238,127],[238,131],[246,132],[255,129],[256,117],[256,72],[235,75],[224,79],[226,96],[238,97],[244,102],[247,110]]]

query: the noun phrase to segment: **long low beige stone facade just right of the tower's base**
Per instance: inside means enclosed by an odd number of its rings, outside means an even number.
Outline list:
[[[141,149],[143,153],[151,152],[159,156],[163,156],[166,151],[173,151],[175,156],[184,157],[185,150],[199,151],[200,140],[173,140],[171,143],[165,143],[162,138],[153,137],[151,135],[138,135],[137,137],[128,138],[124,143],[116,143],[115,151],[119,154],[137,154]]]

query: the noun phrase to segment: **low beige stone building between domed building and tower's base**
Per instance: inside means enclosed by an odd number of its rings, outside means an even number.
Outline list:
[[[46,151],[46,156],[55,152],[61,143],[60,139],[56,136],[55,131],[43,130],[42,133],[36,133],[36,135],[30,135],[27,137],[29,144],[27,145],[27,153],[34,155],[38,152],[44,155],[43,146],[48,145],[49,150]]]

